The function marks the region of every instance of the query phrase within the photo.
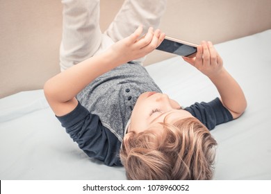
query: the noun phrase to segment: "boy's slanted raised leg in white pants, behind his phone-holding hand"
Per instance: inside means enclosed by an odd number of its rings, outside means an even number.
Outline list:
[[[133,33],[142,25],[143,33],[149,27],[158,28],[166,9],[167,0],[126,0],[105,34],[114,42]],[[138,59],[142,63],[145,58]]]

